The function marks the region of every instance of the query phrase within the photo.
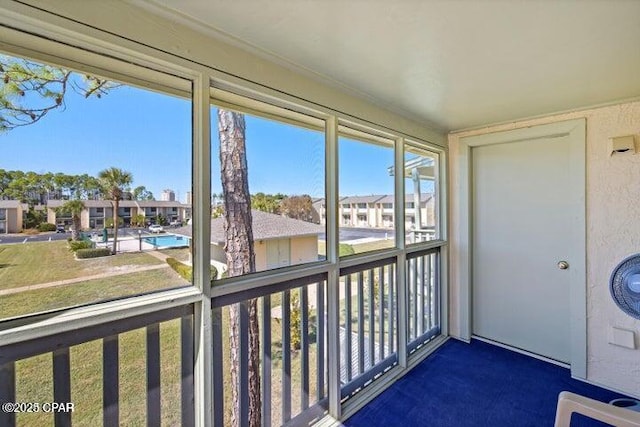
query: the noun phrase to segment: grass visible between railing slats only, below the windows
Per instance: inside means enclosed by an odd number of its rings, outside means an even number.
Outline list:
[[[231,416],[229,310],[223,309],[222,342],[225,424]],[[282,324],[271,319],[272,331],[272,405],[274,425],[281,424],[282,408]],[[146,424],[146,341],[145,330],[137,329],[119,336],[119,388],[120,425]],[[172,320],[160,325],[161,412],[163,426],[180,425],[180,321]],[[309,351],[310,402],[315,402],[316,345]],[[293,416],[301,411],[300,352],[291,358],[291,408]],[[50,402],[53,400],[52,356],[43,354],[16,363],[16,400]],[[74,426],[102,424],[102,341],[96,340],[71,348],[71,400],[75,405],[72,415]],[[19,414],[17,425],[50,426],[52,414]]]

